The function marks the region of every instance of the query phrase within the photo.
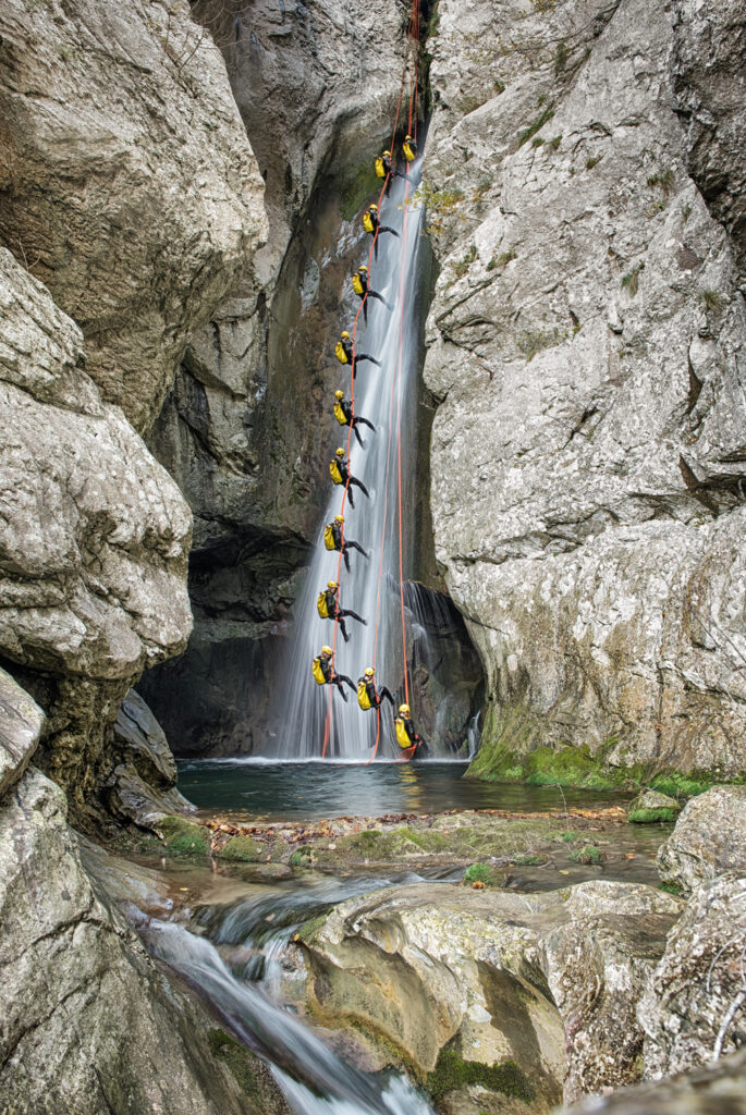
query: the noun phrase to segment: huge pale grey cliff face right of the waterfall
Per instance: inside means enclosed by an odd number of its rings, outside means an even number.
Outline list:
[[[560,743],[746,766],[743,12],[715,7],[438,6],[433,517],[487,776]]]

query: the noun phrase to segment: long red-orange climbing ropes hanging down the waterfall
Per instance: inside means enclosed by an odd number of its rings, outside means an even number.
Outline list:
[[[398,94],[398,98],[397,98],[396,114],[395,114],[395,118],[394,118],[394,126],[393,126],[393,129],[391,129],[391,145],[390,145],[391,152],[394,152],[395,146],[396,146],[396,133],[397,133],[397,128],[398,128],[398,124],[399,124],[399,115],[400,115],[400,110],[401,110],[401,101],[403,101],[403,97],[404,97],[404,88],[405,88],[405,83],[406,83],[407,71],[408,70],[409,70],[409,75],[410,75],[410,77],[409,77],[408,133],[413,134],[413,119],[414,119],[414,136],[415,136],[415,140],[416,140],[416,137],[417,137],[416,104],[417,104],[417,86],[418,86],[418,80],[419,80],[419,72],[418,72],[418,70],[419,70],[419,58],[418,58],[418,52],[419,52],[419,0],[413,0],[411,16],[409,18],[409,23],[408,23],[408,27],[407,27],[407,38],[408,38],[407,52],[406,52],[406,56],[405,56],[404,67],[403,67],[403,70],[401,70],[401,81],[399,84],[399,94]],[[411,67],[409,66],[410,56],[411,56],[411,62],[413,62]],[[381,186],[380,194],[378,196],[378,209],[380,209],[381,203],[384,201],[384,195],[385,195],[386,188],[387,188],[387,186],[389,184],[389,178],[391,177],[391,174],[393,174],[393,171],[389,171],[386,174],[385,178],[384,178],[384,184]],[[401,369],[401,356],[403,356],[403,347],[404,347],[404,313],[405,313],[404,284],[405,284],[405,260],[406,260],[406,246],[407,246],[407,221],[408,221],[409,200],[410,200],[410,194],[409,194],[409,186],[410,186],[410,182],[409,182],[409,163],[406,164],[405,174],[406,174],[406,184],[405,184],[404,219],[403,219],[403,227],[401,227],[401,253],[400,253],[400,260],[401,260],[401,262],[400,262],[400,268],[399,268],[399,303],[400,303],[399,336],[398,336],[398,342],[397,342],[397,353],[396,353],[396,362],[395,362],[395,368],[394,368],[394,375],[391,377],[391,395],[390,395],[390,400],[389,400],[388,439],[387,439],[387,452],[386,452],[386,474],[385,474],[385,483],[384,483],[384,514],[382,514],[381,539],[380,539],[380,547],[379,547],[380,549],[380,559],[379,559],[378,585],[377,585],[377,594],[376,594],[376,621],[375,621],[375,636],[374,636],[374,660],[372,660],[372,666],[374,666],[374,670],[375,670],[375,668],[376,668],[376,656],[377,656],[377,650],[378,650],[379,621],[380,621],[380,600],[381,600],[381,583],[382,583],[382,570],[384,570],[384,549],[385,549],[385,542],[386,542],[386,515],[387,515],[387,510],[388,510],[388,476],[389,476],[389,466],[390,466],[390,457],[391,457],[391,433],[393,433],[393,418],[394,418],[394,399],[396,397],[396,399],[397,399],[397,518],[398,518],[398,536],[399,536],[399,607],[400,607],[400,617],[401,617],[401,643],[403,643],[403,652],[404,652],[404,686],[405,686],[406,701],[407,701],[407,704],[409,704],[409,679],[408,679],[408,663],[407,663],[407,636],[406,636],[405,604],[404,604],[404,540],[403,540],[403,514],[401,514],[401,395],[400,395],[400,391],[397,394],[397,390],[396,390],[397,386],[398,386],[400,369]],[[377,241],[378,241],[378,234],[379,234],[378,233],[378,229],[376,229],[376,232],[374,233],[372,242],[370,244],[370,249],[369,249],[369,252],[368,252],[368,270],[367,270],[368,289],[370,289],[370,284],[372,282],[372,262],[374,262],[374,254],[375,254],[375,250],[376,250],[376,244],[377,244]],[[351,338],[351,340],[352,340],[352,360],[351,360],[351,365],[350,365],[350,406],[351,406],[351,415],[352,415],[352,417],[350,419],[349,429],[347,432],[348,478],[345,482],[345,486],[343,486],[343,489],[342,489],[342,498],[341,498],[341,505],[340,505],[340,511],[339,511],[340,515],[343,515],[345,504],[347,502],[347,495],[348,495],[349,485],[350,485],[350,475],[351,474],[350,474],[350,468],[349,468],[349,462],[350,462],[350,453],[351,453],[351,439],[352,439],[353,419],[355,419],[355,414],[356,414],[356,411],[355,411],[355,365],[356,365],[356,359],[357,359],[357,348],[356,348],[356,345],[357,345],[357,330],[358,330],[358,321],[359,321],[359,318],[360,318],[360,312],[364,311],[364,307],[365,307],[365,303],[367,302],[367,298],[368,298],[368,295],[366,294],[360,300],[360,304],[357,308],[357,312],[355,314],[355,321],[352,323],[352,338]],[[340,547],[339,558],[337,560],[337,614],[335,615],[335,627],[333,627],[332,643],[331,643],[331,650],[332,650],[332,653],[331,653],[331,668],[332,668],[332,671],[335,669],[333,663],[335,663],[335,658],[336,658],[336,653],[337,653],[337,631],[338,631],[338,628],[339,628],[339,611],[341,610],[341,570],[342,570],[342,558],[343,558],[343,545],[345,545],[345,526],[343,526],[343,523],[341,524],[341,542],[342,542],[342,545]],[[329,738],[330,738],[330,735],[331,735],[332,697],[333,697],[333,687],[330,685],[329,686],[329,695],[328,695],[328,704],[327,704],[327,715],[326,715],[326,724],[324,724],[324,734],[323,734],[323,746],[322,746],[322,750],[321,750],[321,757],[322,758],[326,758],[327,748],[329,746]],[[380,714],[380,704],[379,704],[377,706],[377,708],[376,708],[376,743],[375,743],[371,756],[367,760],[367,764],[372,763],[372,760],[375,759],[376,754],[378,752],[378,746],[379,746],[379,741],[380,741],[380,715],[381,714]],[[407,752],[409,753],[407,755],[407,757],[410,757],[411,754],[414,754],[414,747],[413,748],[407,748],[407,749],[403,750],[403,755],[407,754]]]

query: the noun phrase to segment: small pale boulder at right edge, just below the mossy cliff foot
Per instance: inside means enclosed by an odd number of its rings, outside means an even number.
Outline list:
[[[746,786],[714,786],[687,803],[658,851],[658,872],[686,891],[746,870]]]

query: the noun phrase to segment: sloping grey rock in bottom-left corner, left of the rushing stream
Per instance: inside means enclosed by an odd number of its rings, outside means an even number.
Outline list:
[[[0,807],[0,1107],[249,1115],[207,1020],[94,893],[65,796],[27,772]]]

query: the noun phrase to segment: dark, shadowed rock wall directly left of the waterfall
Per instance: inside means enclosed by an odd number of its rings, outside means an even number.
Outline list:
[[[148,437],[194,513],[195,630],[142,691],[178,754],[230,754],[265,736],[326,503],[333,345],[355,312],[342,295],[365,235],[352,219],[377,194],[407,11],[200,0],[194,16],[223,51],[270,230],[238,293],[193,337]]]

